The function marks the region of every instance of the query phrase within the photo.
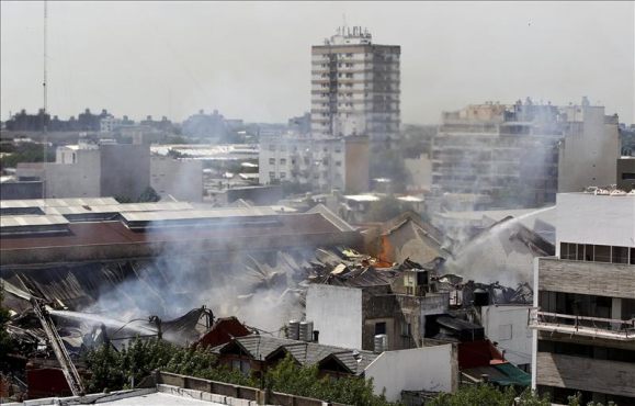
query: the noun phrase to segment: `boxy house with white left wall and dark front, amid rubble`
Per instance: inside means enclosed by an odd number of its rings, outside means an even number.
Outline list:
[[[406,264],[408,267],[408,264]],[[449,293],[434,293],[429,272],[336,268],[309,286],[306,317],[322,342],[373,350],[385,336],[387,350],[423,346],[426,316],[444,314]]]

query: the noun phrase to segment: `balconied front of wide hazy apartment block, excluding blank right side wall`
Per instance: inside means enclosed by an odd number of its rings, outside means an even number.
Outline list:
[[[557,111],[526,101],[444,112],[432,143],[432,191],[504,198],[526,205],[557,192]]]

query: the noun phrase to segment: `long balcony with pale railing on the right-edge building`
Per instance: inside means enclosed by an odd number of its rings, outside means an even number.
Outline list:
[[[574,316],[534,308],[530,313],[530,327],[541,331],[635,342],[635,318],[620,320]]]

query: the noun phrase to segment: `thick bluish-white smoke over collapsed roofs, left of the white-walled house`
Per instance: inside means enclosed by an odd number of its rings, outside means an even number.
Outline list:
[[[168,249],[154,259],[125,262],[127,280],[101,292],[84,311],[123,320],[150,315],[170,319],[205,305],[216,317],[237,316],[252,327],[277,331],[285,320],[302,316],[298,283],[311,255],[228,250],[219,258]]]

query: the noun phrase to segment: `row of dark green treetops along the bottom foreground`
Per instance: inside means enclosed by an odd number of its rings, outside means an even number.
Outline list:
[[[372,380],[344,376],[338,380],[320,377],[316,365],[298,365],[291,357],[269,369],[262,381],[231,371],[218,364],[209,349],[180,348],[162,340],[134,340],[116,351],[104,345],[89,351],[84,361],[91,371],[87,382],[89,392],[115,391],[131,387],[154,370],[260,387],[264,384],[274,392],[314,397],[350,405],[386,406],[384,396],[373,394]]]

